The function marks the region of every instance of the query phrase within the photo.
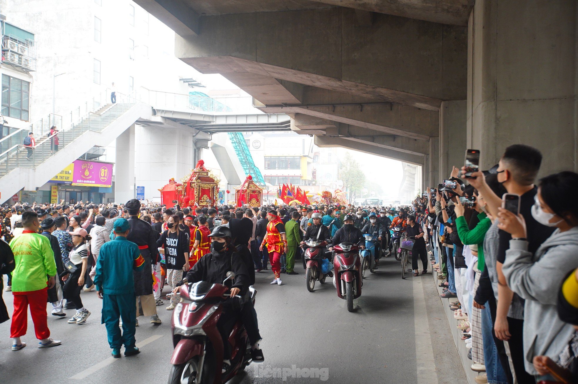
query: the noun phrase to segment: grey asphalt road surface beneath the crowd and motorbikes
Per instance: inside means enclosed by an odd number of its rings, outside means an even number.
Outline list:
[[[466,378],[431,274],[401,279],[399,264],[381,259],[364,281],[362,296],[347,312],[328,279],[307,292],[301,262],[299,275],[281,275],[283,285],[269,285],[271,271],[257,274],[257,309],[265,362],[251,364],[231,383],[277,383],[286,372],[294,383],[465,383]],[[165,287],[165,292],[168,290]],[[10,314],[12,294],[3,292]],[[50,315],[51,337],[61,346],[36,348],[32,321],[10,351],[10,321],[0,324],[0,382],[17,383],[165,383],[172,353],[170,311],[157,307],[162,325],[140,316],[136,329],[142,353],[112,359],[101,325],[101,300],[83,292],[92,312],[83,325]],[[167,304],[168,305],[168,304]],[[69,315],[74,310],[68,310]],[[417,313],[418,316],[414,316]],[[418,360],[416,356],[420,356]],[[285,369],[284,369],[285,368]],[[309,368],[309,369],[305,369]],[[316,369],[310,369],[316,368]],[[316,377],[306,377],[311,375]],[[6,380],[6,381],[5,381]]]

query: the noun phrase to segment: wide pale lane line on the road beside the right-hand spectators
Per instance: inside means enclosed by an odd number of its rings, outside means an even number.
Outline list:
[[[417,384],[437,384],[438,372],[433,361],[432,340],[425,310],[423,278],[413,278],[413,318],[416,328]]]

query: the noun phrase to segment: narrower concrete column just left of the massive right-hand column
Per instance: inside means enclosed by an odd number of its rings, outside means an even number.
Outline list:
[[[466,100],[447,100],[439,110],[439,176],[450,176],[451,167],[464,165],[466,150]],[[429,187],[432,187],[429,185]]]

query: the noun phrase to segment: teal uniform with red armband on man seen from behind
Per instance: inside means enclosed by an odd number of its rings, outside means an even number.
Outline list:
[[[132,271],[144,269],[144,258],[139,247],[126,237],[117,236],[102,244],[98,254],[94,284],[102,299],[102,324],[106,325],[110,348],[127,350],[135,348],[135,281]],[[123,334],[118,319],[123,320]]]

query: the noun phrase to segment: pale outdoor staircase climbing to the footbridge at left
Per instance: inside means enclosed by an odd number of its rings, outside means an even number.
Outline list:
[[[28,132],[22,130],[17,133],[22,136],[21,139],[12,141],[18,145],[13,145],[0,155],[0,202],[22,188],[30,190],[41,187],[90,148],[107,146],[136,120],[150,118],[151,114],[151,107],[140,102],[102,106],[59,132],[58,151],[54,153],[51,153],[51,139],[47,136],[37,137],[30,160],[27,159],[26,148],[21,145]]]

